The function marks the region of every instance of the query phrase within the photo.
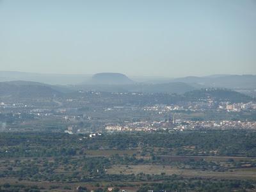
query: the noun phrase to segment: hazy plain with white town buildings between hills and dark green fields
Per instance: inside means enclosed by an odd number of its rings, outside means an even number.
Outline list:
[[[218,91],[218,90],[217,90]],[[216,90],[202,90],[207,94]],[[154,104],[161,97],[173,104]],[[1,130],[47,129],[68,133],[256,129],[256,102],[145,93],[77,92],[74,97],[0,102]],[[239,96],[238,96],[239,97]],[[147,99],[141,103],[138,98]],[[110,101],[111,100],[111,101]],[[118,102],[115,102],[118,101]],[[110,101],[110,102],[109,102]],[[127,103],[127,102],[130,103]],[[149,103],[148,103],[149,102]],[[168,101],[169,102],[169,101]],[[44,127],[40,127],[44,122]],[[57,125],[56,125],[57,124]],[[19,125],[19,126],[18,126]],[[51,128],[51,126],[54,126]]]

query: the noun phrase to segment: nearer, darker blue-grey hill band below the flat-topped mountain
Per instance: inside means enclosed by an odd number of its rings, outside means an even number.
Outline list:
[[[97,92],[122,92],[122,93],[145,93],[145,95],[153,95],[156,93],[171,94],[177,93],[180,99],[195,101],[198,99],[230,101],[230,102],[250,102],[255,98],[234,92],[228,89],[207,88],[196,90],[186,83],[165,83],[165,84],[125,84],[125,85],[81,85],[73,86],[72,89],[66,86],[52,86],[28,81],[9,81],[0,82],[0,99],[1,100],[20,100],[20,99],[54,99],[55,97],[70,97],[77,95],[80,90],[97,91]],[[125,95],[125,94],[124,94]],[[176,95],[176,94],[175,94]]]

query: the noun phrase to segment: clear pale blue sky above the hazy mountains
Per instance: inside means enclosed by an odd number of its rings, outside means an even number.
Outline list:
[[[0,0],[0,70],[256,74],[256,0]]]

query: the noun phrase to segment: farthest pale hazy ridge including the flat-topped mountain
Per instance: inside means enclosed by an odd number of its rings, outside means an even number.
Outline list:
[[[35,81],[46,84],[166,84],[186,83],[194,88],[230,88],[232,90],[256,90],[256,75],[215,74],[211,76],[171,77],[134,77],[118,73],[100,73],[93,75],[36,74],[27,72],[0,71],[0,81]]]

